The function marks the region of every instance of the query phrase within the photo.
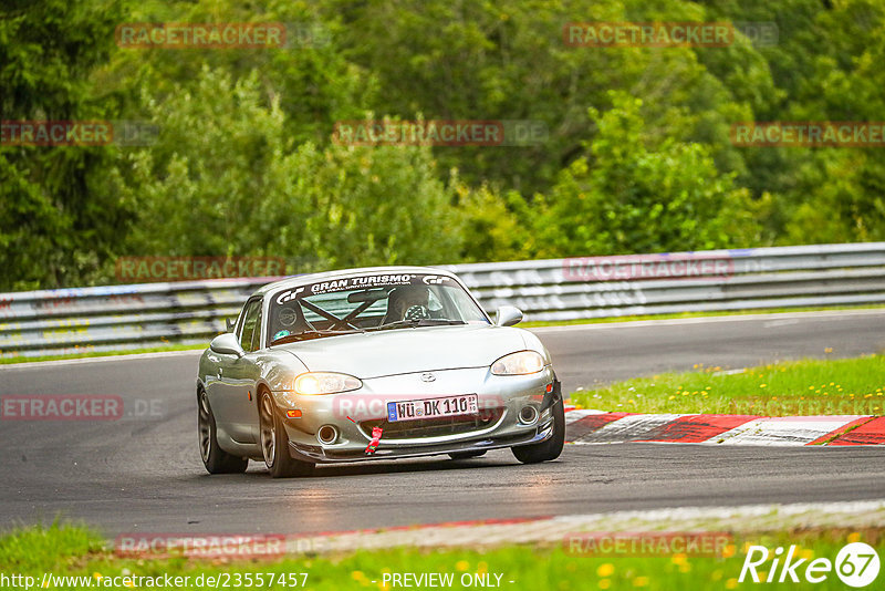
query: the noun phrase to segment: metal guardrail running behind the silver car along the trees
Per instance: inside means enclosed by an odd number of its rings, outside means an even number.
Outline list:
[[[885,303],[885,242],[440,266],[482,305],[560,321]],[[0,356],[206,343],[275,278],[0,294]]]

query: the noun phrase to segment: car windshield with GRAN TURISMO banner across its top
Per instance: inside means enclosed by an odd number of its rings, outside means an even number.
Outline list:
[[[281,291],[271,300],[269,318],[271,344],[489,322],[457,281],[430,273],[366,274]]]

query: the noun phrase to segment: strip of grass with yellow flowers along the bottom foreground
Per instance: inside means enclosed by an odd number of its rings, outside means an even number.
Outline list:
[[[306,589],[313,590],[365,590],[400,589],[384,587],[383,576],[388,573],[440,572],[454,574],[451,589],[465,589],[462,576],[500,574],[504,590],[722,590],[753,589],[759,585],[737,579],[746,557],[748,545],[763,545],[771,550],[778,546],[796,545],[795,553],[801,558],[827,558],[835,560],[839,549],[848,541],[864,541],[885,556],[885,530],[793,530],[780,533],[741,535],[733,543],[722,548],[716,556],[686,556],[664,553],[657,556],[570,553],[569,545],[548,547],[507,545],[487,551],[444,550],[419,551],[394,549],[358,551],[346,556],[290,557],[281,560],[221,562],[184,558],[173,559],[123,559],[104,548],[103,540],[85,529],[53,525],[49,528],[30,528],[11,532],[0,538],[0,573],[25,574],[39,581],[44,572],[55,576],[84,576],[98,581],[117,576],[170,577],[188,576],[196,589],[199,576],[230,577],[232,589],[237,573],[266,573],[264,589],[293,589],[293,587],[269,585],[267,573],[279,580],[281,574],[308,573]],[[772,557],[773,558],[773,557]],[[808,563],[808,562],[806,562]],[[759,568],[767,571],[768,562]],[[801,570],[800,570],[801,573]],[[882,577],[879,576],[879,581]],[[298,579],[301,581],[301,578]],[[204,579],[205,581],[205,579]],[[375,581],[375,582],[373,582]],[[512,583],[510,581],[513,581]],[[207,584],[204,582],[204,587]],[[246,587],[241,585],[240,588]],[[769,585],[763,585],[768,588]],[[834,573],[819,584],[793,583],[790,589],[845,589]],[[83,585],[56,585],[62,589],[82,589]],[[148,588],[148,587],[140,587]],[[221,585],[223,588],[223,585]],[[478,588],[473,588],[478,589]]]

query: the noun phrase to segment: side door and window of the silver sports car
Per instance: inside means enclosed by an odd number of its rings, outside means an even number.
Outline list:
[[[258,440],[258,411],[249,398],[254,397],[258,381],[254,351],[260,344],[261,318],[261,298],[249,300],[235,333],[246,354],[241,357],[219,355],[215,395],[210,395],[216,423],[233,440],[244,444]]]

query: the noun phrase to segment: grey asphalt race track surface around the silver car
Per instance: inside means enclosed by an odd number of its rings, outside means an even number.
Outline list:
[[[885,350],[885,310],[539,329],[566,390],[690,370]],[[825,353],[832,348],[831,353]],[[110,394],[106,422],[0,421],[0,529],[56,516],[122,532],[322,532],[687,506],[881,499],[885,449],[566,446],[321,467],[311,478],[212,477],[197,452],[198,353],[0,367],[0,395]],[[153,401],[148,403],[147,401]],[[140,406],[138,406],[140,404]]]

